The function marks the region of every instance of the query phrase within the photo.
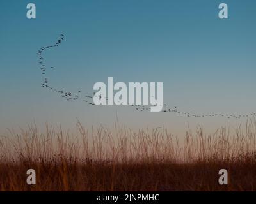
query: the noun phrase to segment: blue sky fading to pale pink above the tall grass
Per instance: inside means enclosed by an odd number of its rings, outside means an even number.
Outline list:
[[[26,18],[35,3],[36,19]],[[218,18],[227,3],[228,19]],[[187,124],[214,129],[244,119],[188,118],[138,112],[130,106],[90,106],[65,101],[42,87],[36,51],[61,33],[61,46],[45,54],[56,69],[49,83],[93,92],[95,82],[163,82],[164,103],[184,112],[256,112],[256,1],[6,1],[0,2],[0,133],[35,121],[72,128]]]

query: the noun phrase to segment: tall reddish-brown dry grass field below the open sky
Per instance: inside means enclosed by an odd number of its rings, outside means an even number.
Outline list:
[[[115,125],[70,134],[46,125],[0,137],[0,191],[255,191],[256,122],[184,139],[164,128],[134,132]],[[233,132],[233,133],[230,133]],[[36,185],[26,171],[36,171]],[[228,170],[228,185],[218,171]]]

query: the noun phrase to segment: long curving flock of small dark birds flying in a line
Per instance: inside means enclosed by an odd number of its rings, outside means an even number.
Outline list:
[[[42,75],[44,76],[43,78],[43,83],[42,83],[42,87],[49,89],[50,91],[54,91],[58,94],[60,94],[60,96],[64,99],[66,99],[67,101],[77,101],[77,100],[81,100],[84,103],[87,103],[88,105],[95,105],[93,103],[93,96],[95,94],[95,92],[93,94],[84,94],[82,91],[77,91],[77,92],[68,92],[65,91],[63,89],[56,89],[55,87],[52,87],[51,85],[49,85],[49,78],[46,77],[47,76],[47,66],[45,66],[44,63],[44,52],[46,52],[47,50],[50,50],[52,48],[56,48],[59,47],[61,45],[61,42],[64,40],[65,36],[64,34],[60,34],[60,37],[58,38],[58,40],[56,40],[54,42],[53,45],[48,45],[45,47],[40,48],[37,51],[37,55],[38,55],[38,64],[40,66],[40,69],[42,71]],[[51,66],[50,69],[55,69],[55,67]],[[106,96],[99,96],[99,98],[101,97],[105,97],[106,100],[108,100],[108,97]],[[130,105],[133,108],[135,108],[135,110],[139,111],[139,112],[144,112],[144,111],[150,111],[150,106],[149,105]],[[177,108],[177,106],[173,106],[172,108],[170,108],[168,105],[164,104],[163,105],[163,110],[162,112],[164,113],[177,113],[179,115],[184,115],[186,117],[196,117],[196,118],[203,118],[203,117],[226,117],[227,119],[241,119],[241,118],[246,118],[246,117],[252,117],[255,116],[256,113],[249,113],[249,114],[227,114],[227,113],[209,113],[209,114],[197,114],[194,113],[192,111],[190,112],[184,112],[181,111]]]

